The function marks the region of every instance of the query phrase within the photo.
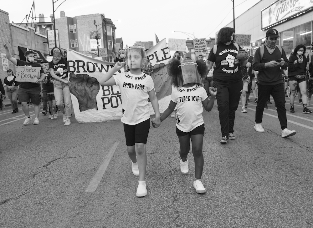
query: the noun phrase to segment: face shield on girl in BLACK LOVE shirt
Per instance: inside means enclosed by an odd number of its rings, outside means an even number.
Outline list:
[[[198,71],[198,65],[194,60],[182,61],[178,66],[178,86],[182,86],[188,83],[202,84],[202,77]]]

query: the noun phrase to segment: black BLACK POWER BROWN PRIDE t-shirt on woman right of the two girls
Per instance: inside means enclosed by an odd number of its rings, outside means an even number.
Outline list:
[[[233,43],[218,44],[216,54],[213,53],[213,48],[211,49],[208,60],[215,62],[216,65],[213,71],[213,81],[231,83],[242,79],[237,54],[238,50]]]

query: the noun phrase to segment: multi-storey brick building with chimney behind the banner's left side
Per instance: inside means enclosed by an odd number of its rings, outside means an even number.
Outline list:
[[[61,11],[60,18],[55,19],[55,28],[59,31],[61,48],[71,48],[92,58],[98,56],[96,40],[98,34],[99,48],[108,48],[108,57],[103,59],[113,62],[108,41],[113,40],[113,48],[116,50],[116,27],[110,18],[105,18],[104,14],[96,13],[70,18]]]

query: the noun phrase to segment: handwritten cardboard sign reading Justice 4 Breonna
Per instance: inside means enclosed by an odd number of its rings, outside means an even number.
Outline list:
[[[17,66],[16,79],[17,82],[33,82],[39,79],[41,67]]]

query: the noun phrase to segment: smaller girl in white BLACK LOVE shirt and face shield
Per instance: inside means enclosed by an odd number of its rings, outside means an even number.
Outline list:
[[[197,65],[198,64],[198,65]],[[168,108],[161,116],[161,122],[166,119],[177,105],[176,134],[180,144],[180,171],[187,175],[188,159],[190,151],[190,139],[192,142],[192,154],[195,161],[195,181],[193,187],[197,193],[205,193],[206,190],[201,182],[203,171],[203,108],[211,111],[214,99],[208,99],[208,95],[202,84],[207,74],[207,66],[204,61],[186,60],[180,62],[173,60],[168,63],[169,75],[172,78],[172,97]],[[214,87],[209,88],[212,97],[216,95]],[[202,107],[203,106],[203,107]],[[156,127],[156,120],[152,120],[152,126]]]

